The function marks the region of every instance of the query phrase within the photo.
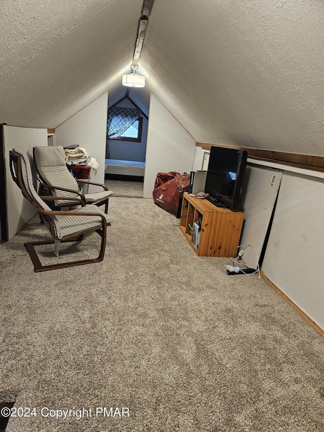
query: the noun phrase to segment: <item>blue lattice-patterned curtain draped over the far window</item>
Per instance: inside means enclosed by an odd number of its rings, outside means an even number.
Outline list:
[[[108,139],[118,138],[142,114],[140,109],[112,106],[108,108],[106,159],[110,159]]]

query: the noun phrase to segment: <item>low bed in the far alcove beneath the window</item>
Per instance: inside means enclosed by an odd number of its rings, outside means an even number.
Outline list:
[[[121,161],[118,159],[105,160],[105,178],[133,181],[144,180],[145,162]]]

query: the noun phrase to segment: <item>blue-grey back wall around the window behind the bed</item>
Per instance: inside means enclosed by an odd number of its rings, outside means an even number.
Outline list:
[[[129,99],[124,99],[117,106],[135,108]],[[145,162],[147,125],[148,120],[143,116],[141,142],[108,139],[110,159]]]

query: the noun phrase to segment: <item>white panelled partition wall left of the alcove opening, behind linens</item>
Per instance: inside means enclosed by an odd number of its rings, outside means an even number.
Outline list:
[[[99,168],[91,171],[91,180],[96,183],[105,180],[107,101],[106,92],[55,129],[55,145],[78,144],[96,159]],[[95,190],[95,186],[89,187],[89,192]]]

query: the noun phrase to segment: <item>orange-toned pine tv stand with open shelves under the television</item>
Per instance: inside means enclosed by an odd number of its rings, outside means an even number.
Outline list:
[[[191,227],[202,218],[200,240],[196,249]],[[216,207],[207,200],[183,194],[180,229],[198,256],[235,257],[244,213]]]

